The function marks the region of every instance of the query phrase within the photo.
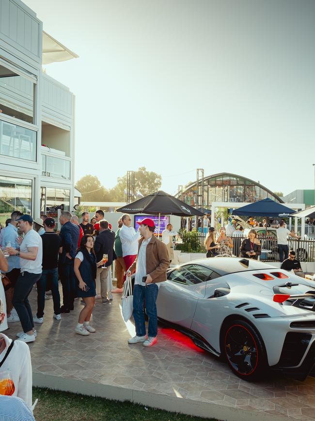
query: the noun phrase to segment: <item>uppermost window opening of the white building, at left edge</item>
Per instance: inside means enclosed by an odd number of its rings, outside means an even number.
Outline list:
[[[3,114],[34,123],[34,83],[0,64],[0,109]]]

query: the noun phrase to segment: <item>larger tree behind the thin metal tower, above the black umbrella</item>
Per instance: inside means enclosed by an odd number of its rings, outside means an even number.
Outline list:
[[[135,171],[135,195],[138,192],[142,196],[147,196],[150,193],[157,191],[162,184],[162,177],[153,171],[147,171],[145,167],[140,167]],[[118,177],[117,184],[110,190],[110,197],[113,202],[125,202],[127,189],[127,175]],[[136,200],[135,197],[135,200]]]

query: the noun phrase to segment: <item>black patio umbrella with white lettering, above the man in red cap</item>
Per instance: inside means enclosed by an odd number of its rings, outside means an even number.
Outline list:
[[[203,216],[204,213],[198,209],[176,199],[174,196],[165,193],[162,190],[151,193],[148,196],[142,197],[135,202],[128,203],[125,206],[116,209],[117,212],[124,212],[127,214],[148,214],[158,215],[158,221],[161,214],[176,215],[179,217]],[[159,223],[159,222],[158,222]],[[159,233],[159,227],[158,227]]]

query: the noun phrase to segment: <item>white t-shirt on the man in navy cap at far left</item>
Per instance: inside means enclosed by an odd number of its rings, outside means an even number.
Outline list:
[[[30,230],[23,238],[20,245],[22,253],[28,253],[28,247],[38,247],[35,260],[22,259],[20,257],[21,272],[42,273],[43,242],[41,236],[35,230]]]

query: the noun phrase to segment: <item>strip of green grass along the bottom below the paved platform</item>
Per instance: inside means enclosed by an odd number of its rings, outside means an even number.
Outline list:
[[[36,421],[204,421],[205,418],[176,414],[130,402],[33,387]],[[154,403],[152,403],[154,405]],[[214,419],[210,419],[215,421]]]

